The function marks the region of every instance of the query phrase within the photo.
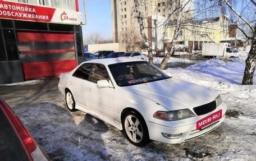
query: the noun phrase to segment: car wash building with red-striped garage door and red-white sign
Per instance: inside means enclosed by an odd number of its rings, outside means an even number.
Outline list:
[[[83,61],[78,0],[0,0],[0,84],[57,76]]]

